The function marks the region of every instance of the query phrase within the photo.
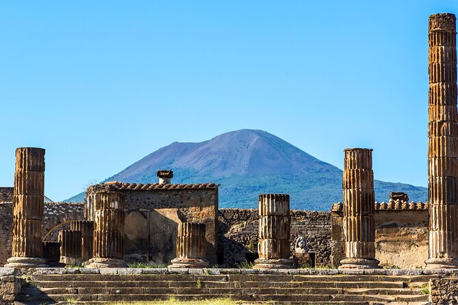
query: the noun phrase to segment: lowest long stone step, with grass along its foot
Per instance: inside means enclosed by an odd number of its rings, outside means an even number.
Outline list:
[[[21,295],[21,297],[27,297]],[[60,294],[48,295],[47,300],[54,300],[56,302],[133,302],[133,301],[151,301],[151,300],[168,300],[170,295],[131,295],[131,294],[116,294],[116,295],[103,295],[103,294]],[[177,295],[177,300],[209,300],[209,296],[205,294],[193,295]],[[427,302],[428,295],[231,295],[225,294],[232,300],[248,301],[248,302]],[[38,301],[27,298],[23,301]],[[21,301],[19,299],[18,301]]]

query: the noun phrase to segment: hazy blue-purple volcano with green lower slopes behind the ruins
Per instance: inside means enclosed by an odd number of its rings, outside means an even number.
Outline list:
[[[173,170],[173,183],[220,184],[220,207],[256,207],[262,193],[290,194],[292,209],[325,211],[342,200],[342,170],[266,131],[242,129],[201,143],[174,142],[106,181],[155,183],[158,169]],[[390,191],[427,200],[424,187],[374,181],[374,188],[379,201]]]

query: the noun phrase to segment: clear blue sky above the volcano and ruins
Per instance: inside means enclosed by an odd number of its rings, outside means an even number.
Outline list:
[[[263,129],[427,185],[427,25],[458,1],[3,1],[0,186],[46,148],[64,200],[171,142]]]

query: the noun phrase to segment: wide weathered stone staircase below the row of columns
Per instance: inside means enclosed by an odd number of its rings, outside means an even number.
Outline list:
[[[188,274],[187,269],[183,274],[168,274],[160,270],[31,274],[16,300],[22,304],[53,304],[230,297],[274,304],[427,304],[429,299],[427,275],[300,274],[300,271],[256,274],[256,270],[225,274],[212,269],[192,270],[196,274]],[[149,271],[156,274],[146,274]]]

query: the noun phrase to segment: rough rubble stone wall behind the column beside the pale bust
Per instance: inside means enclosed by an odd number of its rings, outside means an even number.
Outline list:
[[[218,256],[227,266],[252,261],[257,256],[257,209],[218,211]],[[329,212],[291,211],[291,250],[298,237],[305,237],[309,251],[316,252],[316,265],[329,265],[331,217]]]

